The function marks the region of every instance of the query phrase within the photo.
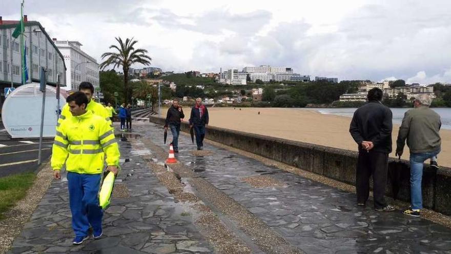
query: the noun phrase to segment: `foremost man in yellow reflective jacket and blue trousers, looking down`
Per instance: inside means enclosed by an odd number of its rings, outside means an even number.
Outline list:
[[[53,177],[61,179],[60,170],[66,164],[69,204],[72,212],[73,244],[89,238],[89,225],[93,238],[102,235],[103,211],[99,207],[99,185],[104,160],[107,171],[117,174],[119,147],[105,118],[86,110],[88,98],[75,92],[66,99],[72,114],[61,122],[52,149]],[[106,159],[105,159],[106,155]]]

